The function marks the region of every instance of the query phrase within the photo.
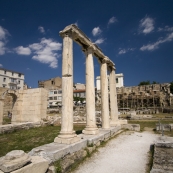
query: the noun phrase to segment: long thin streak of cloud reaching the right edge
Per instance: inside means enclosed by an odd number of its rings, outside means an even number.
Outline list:
[[[163,44],[165,42],[170,42],[172,40],[173,40],[173,32],[168,34],[165,38],[158,39],[158,41],[156,41],[153,44],[148,44],[148,45],[142,46],[140,48],[140,50],[141,51],[145,51],[145,50],[152,51],[152,50],[158,49],[160,44]]]

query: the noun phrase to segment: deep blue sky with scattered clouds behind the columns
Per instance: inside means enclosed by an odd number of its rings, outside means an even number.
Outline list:
[[[0,66],[25,82],[61,77],[59,31],[76,24],[124,74],[125,86],[173,81],[172,0],[0,0]],[[74,43],[74,82],[85,83],[85,56]],[[94,57],[95,76],[100,65]]]

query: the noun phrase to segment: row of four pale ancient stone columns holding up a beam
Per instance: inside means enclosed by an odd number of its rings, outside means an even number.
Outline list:
[[[84,134],[98,134],[95,116],[95,87],[94,87],[94,63],[92,46],[85,48],[86,54],[86,128]],[[109,129],[110,125],[118,124],[118,110],[116,99],[115,68],[110,70],[110,116],[109,119],[109,98],[108,98],[108,78],[107,60],[101,59],[101,114],[102,128]],[[61,131],[54,142],[73,143],[80,140],[73,130],[73,39],[70,32],[63,35],[63,55],[62,55],[62,121]]]

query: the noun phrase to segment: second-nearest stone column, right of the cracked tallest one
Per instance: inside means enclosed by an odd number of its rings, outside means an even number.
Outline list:
[[[95,117],[95,87],[94,87],[94,63],[93,49],[89,47],[86,50],[86,128],[84,134],[97,134],[99,132],[96,126]]]

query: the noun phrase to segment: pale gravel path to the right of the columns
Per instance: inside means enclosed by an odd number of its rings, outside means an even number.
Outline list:
[[[73,173],[145,173],[151,132],[124,132],[81,164]]]

